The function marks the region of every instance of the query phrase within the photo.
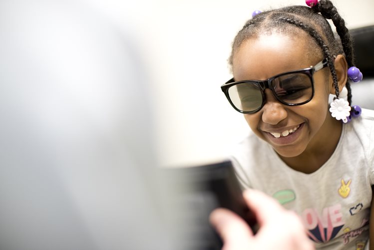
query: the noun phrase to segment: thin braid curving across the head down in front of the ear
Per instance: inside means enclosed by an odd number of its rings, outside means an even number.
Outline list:
[[[330,68],[330,71],[331,71],[331,75],[332,75],[333,80],[334,80],[335,94],[337,95],[337,97],[339,97],[338,76],[337,76],[337,73],[336,73],[336,70],[335,70],[334,57],[331,54],[329,47],[325,44],[325,41],[322,39],[322,37],[318,34],[318,32],[314,28],[312,28],[311,26],[309,26],[309,25],[307,25],[307,24],[305,24],[301,21],[294,20],[294,19],[289,18],[289,17],[279,17],[278,20],[285,21],[285,22],[288,22],[288,23],[290,23],[292,25],[295,25],[299,28],[302,28],[303,30],[308,32],[316,40],[317,44],[322,48],[324,56],[327,58],[327,62],[328,62],[328,65],[329,65],[329,68]]]

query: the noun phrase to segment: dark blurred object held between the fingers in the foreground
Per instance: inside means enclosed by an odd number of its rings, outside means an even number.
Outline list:
[[[220,237],[209,223],[209,215],[217,207],[236,212],[257,231],[256,218],[244,201],[231,161],[167,168],[164,174],[165,190],[175,192],[173,199],[165,200],[164,210],[171,210],[168,220],[177,235],[183,235],[178,250],[222,248]]]

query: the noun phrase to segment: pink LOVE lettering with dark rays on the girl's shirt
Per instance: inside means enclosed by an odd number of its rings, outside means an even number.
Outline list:
[[[302,213],[309,237],[316,242],[327,242],[333,239],[344,226],[342,205],[325,207],[322,214],[316,208],[307,208]]]

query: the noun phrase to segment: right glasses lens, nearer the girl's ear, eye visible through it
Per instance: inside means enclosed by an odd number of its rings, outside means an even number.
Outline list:
[[[289,73],[276,77],[271,82],[273,91],[280,101],[299,104],[313,95],[313,83],[308,74]]]

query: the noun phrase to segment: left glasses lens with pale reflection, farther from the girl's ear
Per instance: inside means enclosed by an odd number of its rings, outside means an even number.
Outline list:
[[[257,84],[243,82],[229,88],[229,96],[236,108],[254,111],[262,105],[262,92]]]

